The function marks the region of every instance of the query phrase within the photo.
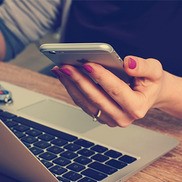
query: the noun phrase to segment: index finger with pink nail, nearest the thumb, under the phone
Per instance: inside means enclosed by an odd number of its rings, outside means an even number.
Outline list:
[[[132,108],[133,101],[137,97],[129,85],[101,65],[86,63],[84,68],[115,102],[127,110]]]

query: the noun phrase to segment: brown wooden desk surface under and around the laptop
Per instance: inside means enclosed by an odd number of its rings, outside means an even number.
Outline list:
[[[0,80],[7,81],[51,97],[72,103],[57,79],[0,63]],[[151,110],[137,125],[171,135],[180,140],[179,146],[131,177],[127,182],[181,182],[182,181],[182,120],[161,111]],[[12,182],[2,175],[0,181]]]

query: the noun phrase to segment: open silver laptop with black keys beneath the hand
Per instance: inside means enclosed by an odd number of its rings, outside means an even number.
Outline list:
[[[19,181],[125,181],[179,142],[136,125],[110,128],[80,108],[7,82],[0,172]]]

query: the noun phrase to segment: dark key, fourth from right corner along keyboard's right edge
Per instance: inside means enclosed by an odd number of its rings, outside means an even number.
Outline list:
[[[84,170],[83,172],[81,172],[81,174],[83,174],[87,177],[90,177],[96,181],[101,181],[107,177],[106,174],[100,173],[99,171],[95,171],[95,170],[90,169],[90,168]]]

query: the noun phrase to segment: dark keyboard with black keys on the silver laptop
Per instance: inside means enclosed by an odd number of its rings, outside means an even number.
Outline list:
[[[136,157],[0,110],[0,119],[59,181],[96,182]]]

